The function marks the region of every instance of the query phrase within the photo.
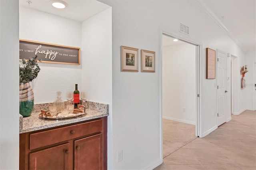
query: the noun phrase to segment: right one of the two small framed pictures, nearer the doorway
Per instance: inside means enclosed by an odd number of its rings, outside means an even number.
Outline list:
[[[155,72],[155,55],[154,51],[141,50],[141,72]]]

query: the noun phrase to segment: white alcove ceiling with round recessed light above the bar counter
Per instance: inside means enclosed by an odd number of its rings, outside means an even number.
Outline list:
[[[19,0],[20,6],[32,8],[34,10],[62,16],[74,21],[83,22],[88,18],[110,8],[110,6],[103,4],[96,0],[62,0],[68,4],[64,9],[57,9],[52,6],[51,0]]]

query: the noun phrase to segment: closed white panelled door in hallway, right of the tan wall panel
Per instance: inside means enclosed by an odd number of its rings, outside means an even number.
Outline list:
[[[226,57],[227,54],[217,50],[217,124],[222,125],[226,118]]]

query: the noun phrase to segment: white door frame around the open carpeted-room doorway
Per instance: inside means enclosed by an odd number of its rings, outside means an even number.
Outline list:
[[[201,88],[201,85],[202,85],[202,63],[201,63],[201,60],[200,60],[200,56],[202,56],[202,43],[200,42],[197,42],[196,40],[192,40],[192,39],[188,39],[187,37],[183,37],[183,36],[180,36],[178,34],[175,34],[175,33],[168,33],[166,31],[161,31],[160,32],[160,44],[161,44],[161,55],[160,55],[160,139],[162,140],[162,132],[163,132],[163,129],[162,129],[162,48],[163,48],[163,45],[162,45],[162,36],[165,35],[165,36],[170,36],[172,38],[177,38],[179,40],[182,40],[186,43],[190,43],[192,45],[195,45],[195,48],[196,48],[196,93],[195,94],[195,98],[196,98],[196,109],[197,109],[197,119],[196,119],[196,128],[195,128],[195,131],[196,131],[196,136],[199,136],[199,137],[203,137],[203,134],[202,134],[202,121],[201,121],[201,113],[202,113],[202,97],[200,97],[200,94],[202,94],[202,88]],[[199,97],[197,97],[197,95],[199,95]],[[163,142],[161,141],[161,151],[162,151],[162,144]],[[162,154],[162,152],[161,152]]]

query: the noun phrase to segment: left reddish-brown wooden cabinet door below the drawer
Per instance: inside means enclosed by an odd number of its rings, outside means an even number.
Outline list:
[[[68,170],[69,143],[30,153],[30,170]]]

